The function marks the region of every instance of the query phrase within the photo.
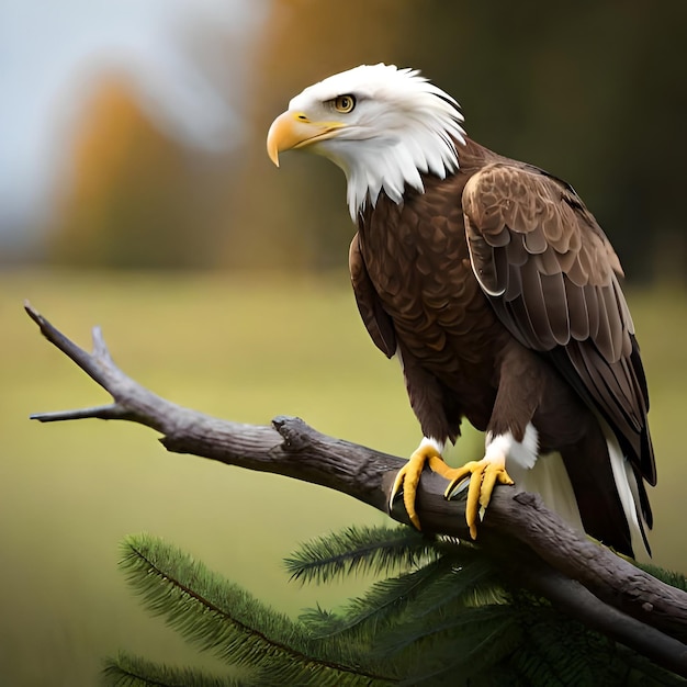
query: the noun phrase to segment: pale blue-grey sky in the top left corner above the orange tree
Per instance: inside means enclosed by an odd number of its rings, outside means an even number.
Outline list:
[[[246,40],[268,0],[0,0],[0,250],[49,212],[69,124],[99,71],[129,74],[158,126],[226,150],[230,106],[182,49],[203,22]]]

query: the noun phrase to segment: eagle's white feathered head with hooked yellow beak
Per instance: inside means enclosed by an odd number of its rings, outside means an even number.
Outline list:
[[[306,88],[274,120],[270,158],[304,148],[338,165],[348,181],[353,221],[383,190],[399,203],[406,187],[424,191],[421,174],[443,179],[458,169],[463,116],[449,94],[412,69],[362,65]]]

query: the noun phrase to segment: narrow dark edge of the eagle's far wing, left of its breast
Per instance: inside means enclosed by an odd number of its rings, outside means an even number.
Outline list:
[[[360,316],[375,346],[391,358],[396,352],[396,333],[388,314],[382,307],[380,297],[370,280],[368,268],[360,251],[360,238],[356,234],[348,254],[351,283]]]

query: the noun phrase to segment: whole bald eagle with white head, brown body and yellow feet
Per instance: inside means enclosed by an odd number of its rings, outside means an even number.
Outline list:
[[[427,464],[447,498],[469,484],[473,538],[495,485],[515,483],[617,551],[649,550],[646,380],[620,262],[573,188],[469,138],[451,95],[393,65],[306,88],[267,146],[275,165],[295,148],[346,174],[358,307],[424,433],[392,494],[410,521]],[[452,469],[463,418],[485,452]]]

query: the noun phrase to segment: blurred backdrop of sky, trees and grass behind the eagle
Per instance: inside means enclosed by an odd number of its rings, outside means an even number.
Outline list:
[[[160,534],[291,615],[299,541],[384,517],[337,494],[168,455],[124,424],[38,426],[106,399],[23,299],[183,405],[397,454],[419,430],[348,286],[344,177],[264,153],[305,86],[420,68],[470,136],[570,181],[623,262],[652,392],[654,561],[687,571],[687,3],[0,0],[0,680],[87,685],[120,647],[191,661],[131,598],[119,540]],[[472,458],[470,435],[457,460]],[[316,517],[313,514],[316,513]],[[185,652],[185,653],[184,653]]]

